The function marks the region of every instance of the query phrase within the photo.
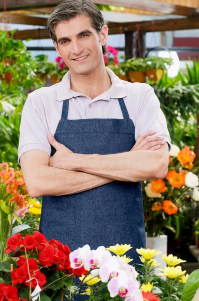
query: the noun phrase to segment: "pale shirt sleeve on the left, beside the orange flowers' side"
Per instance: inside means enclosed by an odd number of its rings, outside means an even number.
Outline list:
[[[18,143],[18,164],[22,154],[32,149],[40,149],[50,157],[51,146],[48,141],[47,130],[39,116],[37,103],[33,93],[27,96],[21,112]]]

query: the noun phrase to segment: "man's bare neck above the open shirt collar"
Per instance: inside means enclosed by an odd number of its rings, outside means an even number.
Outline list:
[[[104,65],[97,67],[89,74],[78,75],[70,72],[70,88],[74,92],[79,92],[90,98],[102,94],[111,86],[111,80]]]

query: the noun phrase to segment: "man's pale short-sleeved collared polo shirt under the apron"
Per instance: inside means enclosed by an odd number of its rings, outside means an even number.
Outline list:
[[[48,134],[55,133],[65,99],[69,99],[68,119],[122,119],[118,98],[123,98],[135,126],[135,141],[139,134],[156,130],[156,135],[163,136],[170,145],[166,119],[153,88],[145,83],[120,80],[110,69],[105,69],[112,85],[94,99],[70,89],[69,71],[59,83],[35,90],[27,96],[19,127],[19,164],[21,155],[32,149],[43,150],[50,157]]]

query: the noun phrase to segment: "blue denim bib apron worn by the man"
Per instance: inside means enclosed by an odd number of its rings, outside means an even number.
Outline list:
[[[135,128],[123,98],[118,101],[123,119],[69,120],[69,100],[64,100],[54,138],[77,154],[128,152],[135,143]],[[55,152],[51,146],[51,157]],[[126,256],[137,263],[136,248],[145,246],[141,183],[114,181],[72,195],[43,196],[39,230],[71,251],[85,244],[91,249],[130,244]]]

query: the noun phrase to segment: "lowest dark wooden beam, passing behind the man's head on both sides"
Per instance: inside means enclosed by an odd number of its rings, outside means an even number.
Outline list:
[[[133,23],[109,23],[109,34],[120,34],[127,32],[135,32],[139,26],[140,32],[153,32],[153,31],[173,31],[173,30],[186,30],[186,29],[199,29],[199,18],[191,17],[185,19],[169,19],[158,21],[144,21]],[[47,29],[33,29],[21,30],[14,34],[14,39],[49,39]]]

